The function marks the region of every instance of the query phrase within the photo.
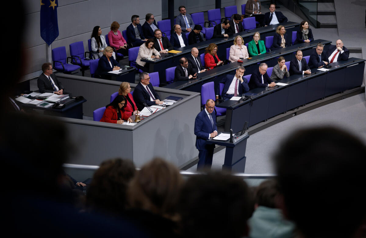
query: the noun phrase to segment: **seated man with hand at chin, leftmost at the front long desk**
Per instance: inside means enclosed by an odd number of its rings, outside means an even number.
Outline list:
[[[244,72],[244,66],[238,66],[235,75],[228,74],[220,81],[225,84],[221,95],[225,101],[249,91],[248,80],[243,78]],[[216,95],[216,99],[218,98],[219,96]]]

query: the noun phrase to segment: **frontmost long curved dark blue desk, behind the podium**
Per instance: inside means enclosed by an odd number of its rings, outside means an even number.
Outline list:
[[[349,58],[330,64],[329,71],[313,69],[314,74],[295,74],[277,82],[286,86],[274,89],[255,88],[250,93],[257,96],[242,101],[228,100],[216,107],[226,108],[225,131],[239,131],[245,121],[253,126],[293,108],[305,105],[326,96],[362,85],[365,60]]]

